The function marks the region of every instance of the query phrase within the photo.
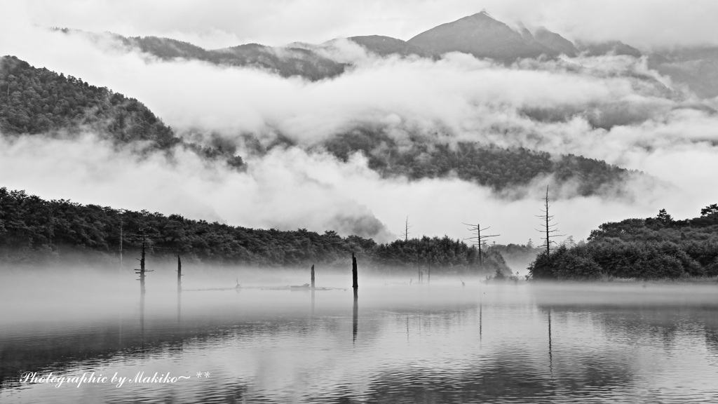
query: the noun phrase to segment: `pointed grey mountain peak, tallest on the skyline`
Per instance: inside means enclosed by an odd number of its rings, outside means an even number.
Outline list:
[[[549,47],[527,40],[486,12],[421,32],[407,43],[424,48],[434,55],[465,52],[477,58],[492,58],[507,63],[518,58],[538,58],[544,54],[557,54]]]

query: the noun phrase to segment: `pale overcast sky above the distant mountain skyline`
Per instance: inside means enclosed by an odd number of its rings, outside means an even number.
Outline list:
[[[636,47],[718,43],[714,0],[26,0],[4,6],[40,26],[158,35],[202,47],[284,45],[335,37],[409,40],[486,9],[496,19],[544,25],[569,39]]]

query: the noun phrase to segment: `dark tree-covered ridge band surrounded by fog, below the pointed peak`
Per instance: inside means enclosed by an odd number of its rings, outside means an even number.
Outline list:
[[[411,140],[410,144],[400,145],[381,131],[356,129],[330,139],[325,147],[342,160],[348,160],[352,152],[363,152],[369,167],[387,177],[404,175],[419,180],[456,175],[497,191],[527,185],[541,175],[554,175],[552,183],[573,182],[582,196],[620,193],[622,190],[616,185],[630,173],[638,173],[600,160],[575,155],[556,158],[523,147],[470,142],[449,145],[419,137]]]

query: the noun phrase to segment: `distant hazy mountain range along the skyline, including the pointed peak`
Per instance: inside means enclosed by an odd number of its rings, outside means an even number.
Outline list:
[[[70,29],[57,30],[75,32]],[[85,35],[98,41],[103,37],[98,34]],[[202,60],[238,68],[258,68],[281,77],[297,76],[309,81],[337,77],[345,73],[351,65],[345,60],[335,60],[330,52],[323,52],[334,45],[336,40],[320,45],[300,42],[283,47],[244,44],[205,50],[170,38],[107,35],[120,42],[127,50],[139,50],[162,60]],[[433,27],[407,41],[381,35],[355,36],[346,40],[382,58],[411,56],[437,59],[447,52],[464,52],[475,58],[489,58],[510,64],[526,58],[555,59],[560,55],[569,58],[579,55],[626,55],[633,58],[648,56],[652,69],[668,75],[675,83],[687,86],[701,98],[718,96],[718,47],[676,47],[673,50],[641,52],[620,40],[572,42],[546,27],[538,27],[533,32],[520,23],[518,27],[509,27],[485,11]]]

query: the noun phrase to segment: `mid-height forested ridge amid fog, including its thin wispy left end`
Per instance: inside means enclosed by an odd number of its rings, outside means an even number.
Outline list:
[[[269,144],[250,135],[243,138],[243,150],[260,158],[275,149],[292,147],[310,153],[328,153],[345,163],[360,154],[370,170],[386,179],[458,178],[490,188],[506,200],[526,198],[538,183],[551,183],[560,190],[554,196],[557,199],[602,196],[630,200],[635,198],[630,189],[633,180],[658,185],[656,179],[640,171],[579,155],[500,147],[485,142],[453,142],[439,133],[412,132],[408,142],[400,142],[387,128],[376,124],[358,124],[311,146],[293,142],[281,134]]]

